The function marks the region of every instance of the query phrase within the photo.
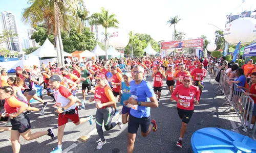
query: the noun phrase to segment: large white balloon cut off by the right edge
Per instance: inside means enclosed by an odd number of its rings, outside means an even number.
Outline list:
[[[256,39],[256,19],[251,17],[233,20],[224,31],[224,39],[231,44],[250,43]]]

